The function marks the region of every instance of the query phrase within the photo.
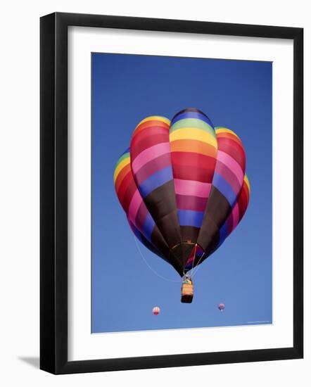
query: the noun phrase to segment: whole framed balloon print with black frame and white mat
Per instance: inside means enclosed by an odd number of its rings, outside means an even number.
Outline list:
[[[303,30],[41,18],[54,374],[303,357]]]

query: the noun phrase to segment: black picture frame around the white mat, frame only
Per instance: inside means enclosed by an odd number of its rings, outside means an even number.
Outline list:
[[[68,26],[293,40],[293,347],[68,361]],[[303,357],[303,29],[111,15],[40,20],[40,368],[53,374]]]

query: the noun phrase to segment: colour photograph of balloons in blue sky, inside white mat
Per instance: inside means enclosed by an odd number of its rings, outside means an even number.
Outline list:
[[[272,62],[91,53],[91,333],[273,324]]]

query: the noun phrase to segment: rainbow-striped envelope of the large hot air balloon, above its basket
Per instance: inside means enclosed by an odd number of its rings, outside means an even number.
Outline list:
[[[115,191],[137,239],[184,277],[241,221],[250,196],[245,170],[239,137],[187,108],[172,121],[139,122],[115,167]]]

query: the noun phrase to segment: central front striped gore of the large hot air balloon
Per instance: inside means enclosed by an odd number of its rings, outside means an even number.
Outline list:
[[[183,240],[196,240],[212,186],[217,139],[212,122],[196,109],[182,110],[170,125],[170,152]]]

